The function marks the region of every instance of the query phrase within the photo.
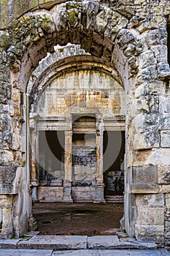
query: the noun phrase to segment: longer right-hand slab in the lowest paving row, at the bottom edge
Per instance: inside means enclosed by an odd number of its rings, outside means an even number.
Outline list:
[[[169,256],[165,249],[113,249],[113,250],[77,250],[67,252],[53,252],[53,256]]]

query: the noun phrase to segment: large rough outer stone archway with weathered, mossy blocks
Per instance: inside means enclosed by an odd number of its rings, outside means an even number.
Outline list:
[[[54,45],[71,42],[110,61],[123,81],[127,106],[125,230],[139,239],[163,241],[164,228],[169,231],[164,217],[169,208],[169,181],[163,177],[169,171],[170,146],[166,143],[169,117],[163,107],[169,67],[163,54],[158,55],[166,50],[166,19],[161,15],[153,18],[150,30],[147,19],[144,29],[135,23],[135,15],[120,15],[114,7],[92,1],[65,2],[50,10],[27,12],[1,34],[1,122],[7,131],[1,143],[2,238],[24,233],[31,216],[28,138],[24,136],[28,79]]]

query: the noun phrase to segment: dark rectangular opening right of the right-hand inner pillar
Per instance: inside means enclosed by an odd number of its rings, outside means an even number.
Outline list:
[[[125,132],[104,132],[104,198],[123,200]]]

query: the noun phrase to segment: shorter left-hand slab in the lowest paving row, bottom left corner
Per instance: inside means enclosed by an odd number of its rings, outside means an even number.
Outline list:
[[[51,256],[48,249],[0,249],[1,256]]]

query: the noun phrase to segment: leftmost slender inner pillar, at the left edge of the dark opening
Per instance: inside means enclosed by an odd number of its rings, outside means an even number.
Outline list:
[[[37,187],[39,185],[38,167],[37,167],[37,131],[31,129],[31,186],[32,186],[32,200],[36,202]]]

